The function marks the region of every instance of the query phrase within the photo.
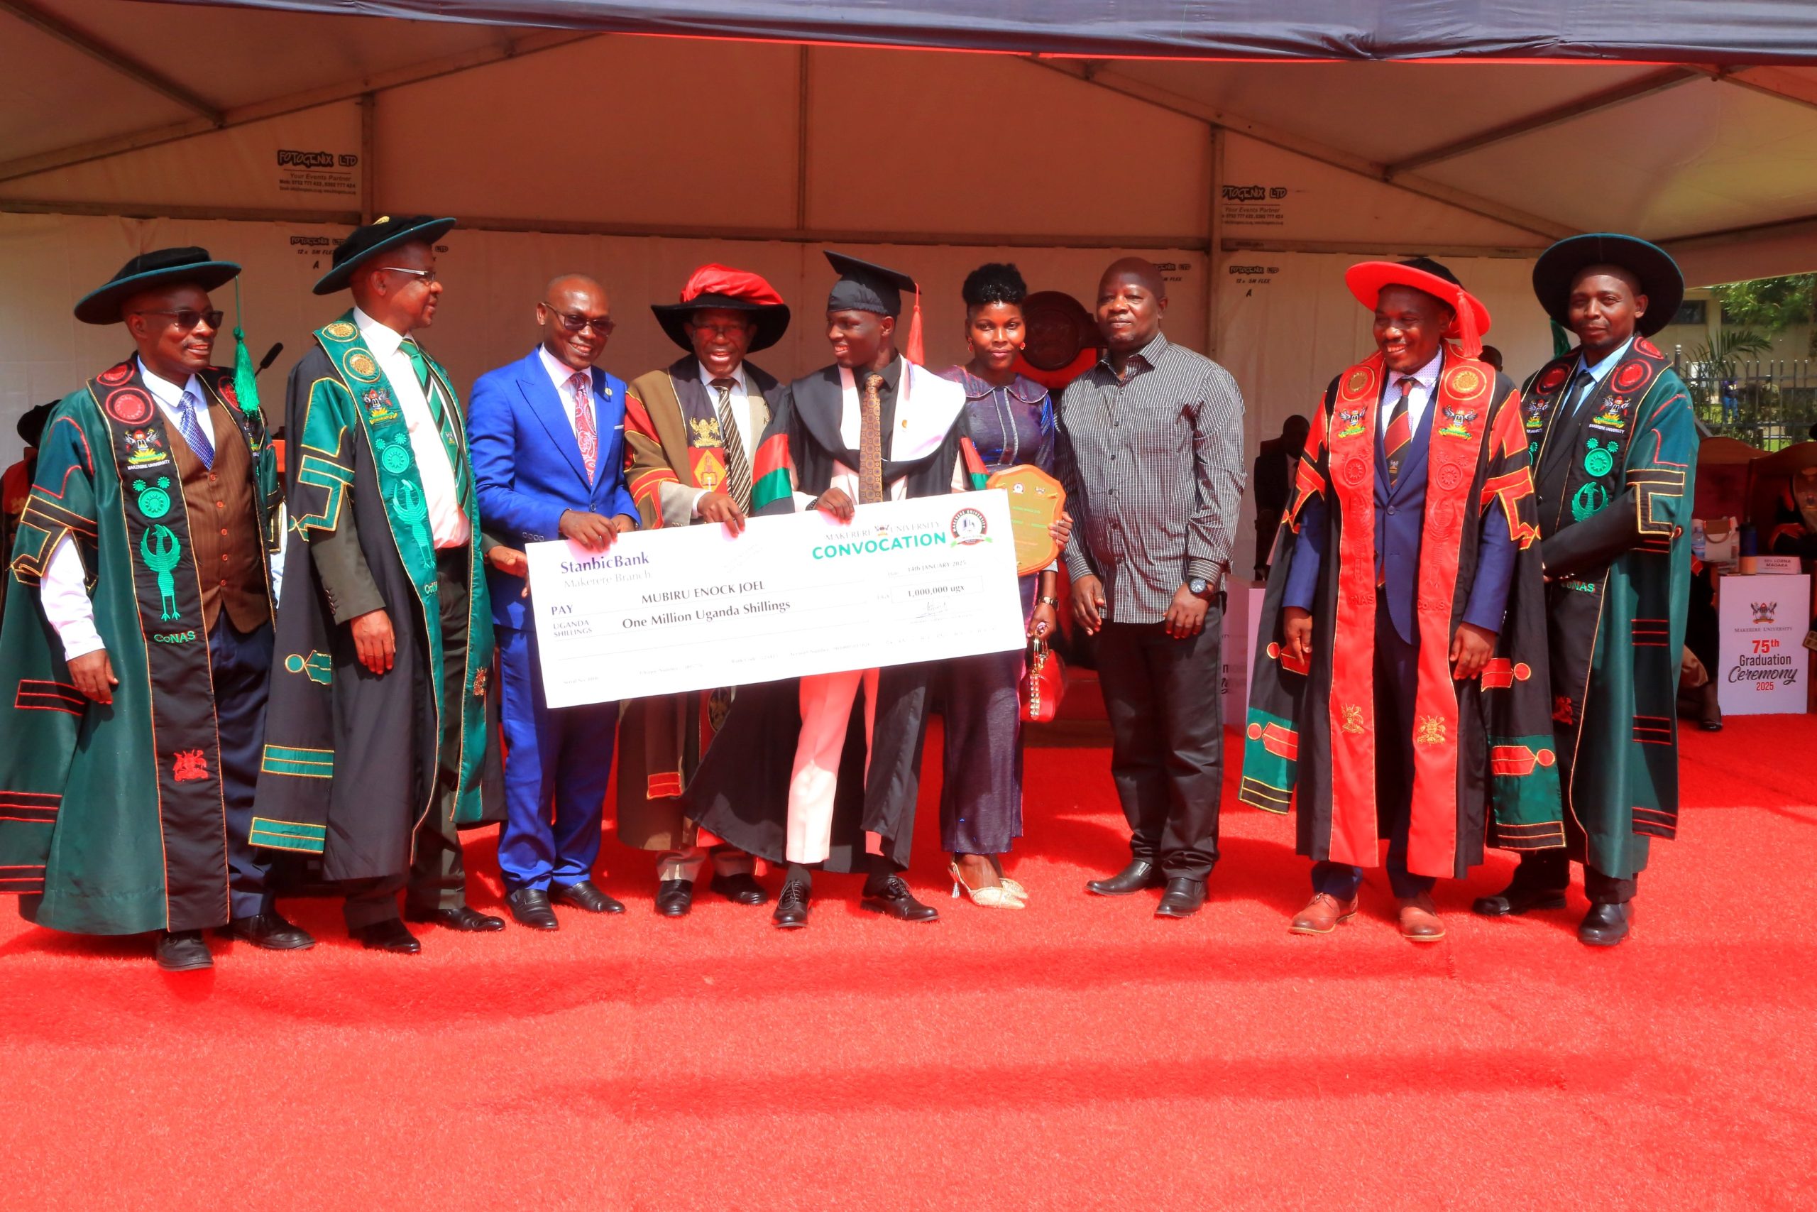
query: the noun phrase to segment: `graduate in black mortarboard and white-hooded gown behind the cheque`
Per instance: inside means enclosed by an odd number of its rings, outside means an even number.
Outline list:
[[[754,460],[752,512],[819,509],[850,522],[872,503],[963,491],[965,391],[918,363],[919,307],[908,356],[896,347],[903,293],[919,298],[914,278],[843,253],[827,260],[839,274],[827,294],[832,365],[778,392]],[[845,447],[849,432],[858,449]],[[869,774],[839,765],[859,683],[874,723]],[[683,805],[721,841],[787,863],[778,927],[807,925],[812,867],[863,870],[867,910],[939,916],[896,874],[914,834],[925,709],[921,665],[740,687]]]

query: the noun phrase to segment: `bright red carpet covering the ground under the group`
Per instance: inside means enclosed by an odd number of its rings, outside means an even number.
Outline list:
[[[1379,874],[1348,927],[1292,938],[1292,827],[1248,809],[1197,918],[1088,898],[1127,854],[1103,749],[1028,754],[1025,912],[945,898],[923,800],[930,927],[859,914],[850,878],[796,934],[712,896],[663,921],[611,841],[627,916],[425,930],[414,959],[296,901],[314,950],[216,943],[213,972],[164,976],[144,939],[7,907],[4,1203],[1813,1207],[1813,750],[1810,718],[1688,734],[1683,839],[1606,952],[1575,941],[1577,894],[1472,919],[1503,856],[1439,887],[1435,947],[1399,939]],[[496,909],[491,845],[469,856]]]

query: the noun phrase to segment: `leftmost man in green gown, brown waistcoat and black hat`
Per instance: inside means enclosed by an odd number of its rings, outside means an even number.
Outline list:
[[[76,303],[136,354],[51,414],[0,632],[0,890],[80,934],[202,932],[293,950],[253,789],[271,674],[278,474],[251,360],[209,365],[240,273],[205,249],[134,256]]]

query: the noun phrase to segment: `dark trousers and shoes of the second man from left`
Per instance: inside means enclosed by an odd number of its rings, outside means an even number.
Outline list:
[[[467,549],[436,552],[436,594],[442,607],[442,743],[436,749],[434,807],[416,827],[416,858],[411,870],[382,879],[349,879],[343,914],[358,930],[398,918],[398,890],[407,889],[411,909],[434,912],[467,903],[467,872],[462,867],[454,805],[460,800],[462,700],[467,692]],[[400,643],[409,641],[409,616],[391,620]]]

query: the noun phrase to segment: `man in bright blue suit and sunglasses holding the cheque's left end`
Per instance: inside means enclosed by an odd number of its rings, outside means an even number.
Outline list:
[[[560,536],[605,551],[636,527],[638,507],[625,487],[625,383],[594,367],[612,334],[605,291],[556,278],[536,323],[541,345],[474,383],[467,427],[480,523],[501,543],[487,558],[507,747],[498,867],[511,916],[554,930],[551,901],[625,912],[592,883],[618,703],[543,701],[521,547]]]

